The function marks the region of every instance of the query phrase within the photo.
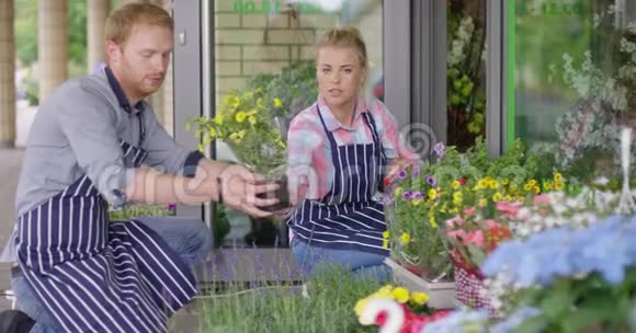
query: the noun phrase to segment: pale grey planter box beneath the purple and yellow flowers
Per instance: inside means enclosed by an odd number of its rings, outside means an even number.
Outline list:
[[[428,305],[434,309],[453,309],[457,306],[455,300],[455,283],[431,283],[405,268],[393,259],[386,259],[385,264],[393,269],[396,284],[412,290],[427,292],[431,299]]]

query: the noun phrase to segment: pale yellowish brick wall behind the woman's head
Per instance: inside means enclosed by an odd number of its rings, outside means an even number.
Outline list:
[[[253,2],[261,7],[261,1]],[[228,89],[245,87],[257,73],[277,73],[294,60],[313,59],[316,37],[339,24],[334,14],[241,13],[235,3],[215,1],[217,101]],[[353,24],[364,34],[371,60],[382,65],[382,8],[376,5],[362,18]]]

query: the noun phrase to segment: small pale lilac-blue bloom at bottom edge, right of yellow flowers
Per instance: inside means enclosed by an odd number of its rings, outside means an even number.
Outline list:
[[[486,333],[488,312],[486,311],[454,311],[447,317],[427,324],[421,333]]]

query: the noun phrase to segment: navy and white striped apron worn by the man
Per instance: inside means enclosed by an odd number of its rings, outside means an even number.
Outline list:
[[[121,140],[126,164],[148,153]],[[151,229],[111,222],[88,176],[19,217],[21,271],[65,332],[167,332],[196,294],[188,267]]]

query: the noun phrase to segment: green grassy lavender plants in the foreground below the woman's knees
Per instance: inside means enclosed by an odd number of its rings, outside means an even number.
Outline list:
[[[300,286],[230,286],[202,299],[202,332],[374,332],[357,322],[353,307],[377,290],[377,283],[331,269],[308,279],[307,286],[309,298],[302,296]]]

